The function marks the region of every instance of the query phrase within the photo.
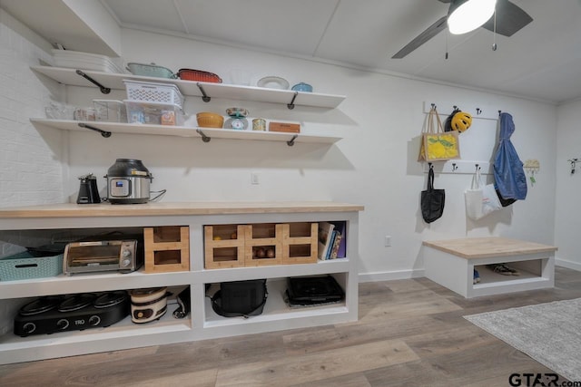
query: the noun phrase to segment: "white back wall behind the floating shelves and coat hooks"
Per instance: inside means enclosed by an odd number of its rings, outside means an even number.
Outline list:
[[[153,172],[152,189],[168,189],[165,201],[359,203],[365,206],[359,222],[362,280],[421,276],[419,253],[426,239],[497,235],[553,243],[556,107],[551,104],[133,30],[123,30],[122,45],[126,62],[154,62],[175,71],[210,71],[224,82],[230,82],[231,69],[241,68],[252,73],[252,84],[262,76],[279,75],[291,84],[309,82],[315,92],[346,95],[338,109],[329,111],[301,107],[289,111],[270,103],[217,99],[204,103],[190,98],[186,103],[190,113],[224,114],[227,107],[242,106],[251,111],[251,117],[298,121],[304,132],[339,135],[343,140],[334,146],[287,147],[284,142],[214,139],[203,143],[117,134],[103,139],[93,132],[74,132],[70,134],[70,174],[64,179],[65,194],[72,199],[78,189],[77,176],[87,172],[103,176],[116,158],[135,158]],[[92,98],[103,97],[94,90],[69,87],[69,101],[89,104]],[[123,99],[123,92],[112,98]],[[527,200],[478,223],[470,222],[463,197],[470,175],[438,174],[437,188],[447,190],[445,214],[425,224],[419,214],[419,192],[426,175],[416,161],[424,102],[437,103],[442,119],[453,105],[468,111],[478,107],[483,117],[490,118],[496,118],[498,110],[510,112],[517,128],[512,140],[520,158],[541,163],[537,184],[529,186]],[[495,120],[475,120],[473,133],[464,136],[464,148],[479,158],[489,154],[481,160],[488,161],[494,150],[483,141],[487,150],[476,152],[478,136],[496,136],[496,125]],[[471,156],[464,158],[474,160]],[[251,172],[259,173],[260,185],[251,185]],[[104,185],[100,179],[102,191]],[[384,247],[387,235],[392,237],[392,247]]]

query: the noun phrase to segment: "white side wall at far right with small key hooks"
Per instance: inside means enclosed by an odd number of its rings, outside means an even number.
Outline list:
[[[568,160],[581,160],[581,101],[566,103],[558,108],[556,127],[556,213],[555,244],[557,262],[581,270],[581,163],[571,174]]]

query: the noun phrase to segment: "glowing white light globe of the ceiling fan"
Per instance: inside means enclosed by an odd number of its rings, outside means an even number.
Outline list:
[[[448,11],[450,34],[466,34],[485,24],[494,15],[497,0],[452,1]]]

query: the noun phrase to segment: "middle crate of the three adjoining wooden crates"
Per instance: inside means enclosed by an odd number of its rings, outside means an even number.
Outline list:
[[[274,223],[248,225],[244,249],[244,266],[281,265],[282,225]]]

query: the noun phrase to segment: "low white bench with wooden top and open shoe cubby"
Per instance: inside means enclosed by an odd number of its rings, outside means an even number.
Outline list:
[[[556,249],[505,237],[424,241],[425,275],[466,298],[543,289],[555,285]],[[494,267],[499,264],[516,273],[498,273]]]

